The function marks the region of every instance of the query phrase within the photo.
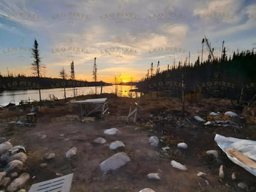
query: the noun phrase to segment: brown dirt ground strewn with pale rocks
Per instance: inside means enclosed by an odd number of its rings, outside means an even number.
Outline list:
[[[129,106],[134,102],[142,106],[137,123],[121,118],[127,115]],[[176,119],[168,123],[161,121],[161,116],[180,116],[181,102],[176,98],[108,98],[110,114],[105,120],[82,123],[80,120],[67,118],[78,115],[79,106],[66,104],[55,108],[43,107],[38,113],[38,123],[33,127],[15,126],[7,130],[6,123],[1,123],[0,142],[10,140],[13,145],[26,147],[28,159],[24,172],[30,174],[26,188],[33,183],[46,181],[73,173],[71,191],[139,191],[142,188],[152,188],[154,191],[256,191],[256,177],[233,164],[221,152],[214,141],[215,134],[226,137],[250,138],[256,140],[255,125],[235,130],[234,128],[205,128],[193,121],[193,115],[208,118],[211,111],[235,111],[229,101],[201,101],[187,103],[186,117],[191,120],[183,126],[176,126]],[[217,104],[218,103],[218,104]],[[134,106],[133,106],[134,107]],[[243,111],[235,111],[242,115]],[[153,115],[153,118],[149,117]],[[158,117],[158,118],[154,118]],[[157,119],[157,120],[156,120]],[[166,125],[169,126],[166,126]],[[171,133],[163,135],[161,128],[169,128]],[[118,128],[121,135],[107,136],[103,131],[107,128]],[[134,130],[139,128],[139,130]],[[149,137],[155,135],[161,139],[159,147],[149,144]],[[107,142],[95,145],[92,140],[104,137]],[[124,142],[124,149],[111,151],[110,142]],[[178,142],[186,142],[188,149],[176,147]],[[161,154],[161,147],[169,146],[169,157]],[[78,154],[73,159],[65,159],[65,152],[71,147],[78,148]],[[218,151],[219,158],[215,159],[206,154],[207,150]],[[126,152],[131,162],[121,168],[103,174],[100,162],[116,152]],[[54,152],[54,159],[43,159],[44,154]],[[171,160],[186,165],[187,171],[174,169]],[[48,166],[41,168],[41,163]],[[225,178],[220,181],[218,171],[223,164]],[[197,171],[206,173],[205,178],[198,177]],[[231,174],[235,171],[238,180],[233,181]],[[159,173],[160,181],[152,181],[146,175]],[[238,183],[247,184],[247,189],[238,188]]]

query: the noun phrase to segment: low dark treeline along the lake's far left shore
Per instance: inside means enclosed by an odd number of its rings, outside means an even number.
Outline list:
[[[3,77],[0,75],[0,91],[15,91],[28,89],[55,89],[55,88],[72,88],[82,86],[108,86],[112,84],[103,81],[80,81],[71,79],[58,79],[50,77],[26,77],[18,75],[16,77]]]

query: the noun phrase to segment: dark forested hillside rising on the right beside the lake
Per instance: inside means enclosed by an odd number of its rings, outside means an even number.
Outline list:
[[[151,69],[153,71],[152,65]],[[183,86],[182,86],[183,81]],[[181,91],[195,93],[200,91],[205,96],[221,98],[250,99],[256,94],[256,54],[254,50],[233,53],[227,57],[225,50],[220,58],[194,64],[168,67],[167,70],[149,76],[146,75],[137,87],[144,93],[149,91],[170,91],[172,96],[181,97]]]

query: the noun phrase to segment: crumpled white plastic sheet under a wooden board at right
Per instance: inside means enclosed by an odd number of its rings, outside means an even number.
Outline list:
[[[214,140],[215,142],[217,142],[218,147],[220,147],[220,149],[222,149],[223,152],[225,152],[226,148],[233,147],[237,149],[239,152],[241,152],[242,154],[245,154],[247,157],[252,159],[252,161],[256,162],[256,153],[255,153],[256,141],[240,140],[234,137],[224,137],[218,134],[215,135]],[[225,152],[225,154],[227,154],[228,159],[230,159],[232,162],[234,162],[235,164],[238,164],[239,166],[242,166],[243,169],[245,169],[246,171],[249,171],[251,174],[256,176],[256,168],[247,166],[246,164],[240,162],[235,157],[230,157],[230,155],[228,155],[227,152]]]

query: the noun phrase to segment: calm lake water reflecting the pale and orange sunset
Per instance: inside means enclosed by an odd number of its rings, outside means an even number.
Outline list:
[[[117,86],[117,96],[122,97],[132,97],[135,98],[135,93],[129,92],[130,89],[135,89],[136,86]],[[116,86],[103,86],[102,94],[114,94]],[[41,89],[41,98],[42,100],[50,100],[50,96],[53,98],[53,95],[59,99],[64,98],[64,89]],[[75,92],[77,96],[95,94],[95,86],[87,87],[76,87]],[[100,94],[100,86],[97,87],[97,94]],[[73,97],[74,92],[73,88],[66,89],[66,96]],[[138,96],[139,93],[138,93]],[[38,90],[22,90],[22,91],[3,91],[0,93],[0,106],[6,106],[9,103],[20,103],[21,101],[39,101]]]

